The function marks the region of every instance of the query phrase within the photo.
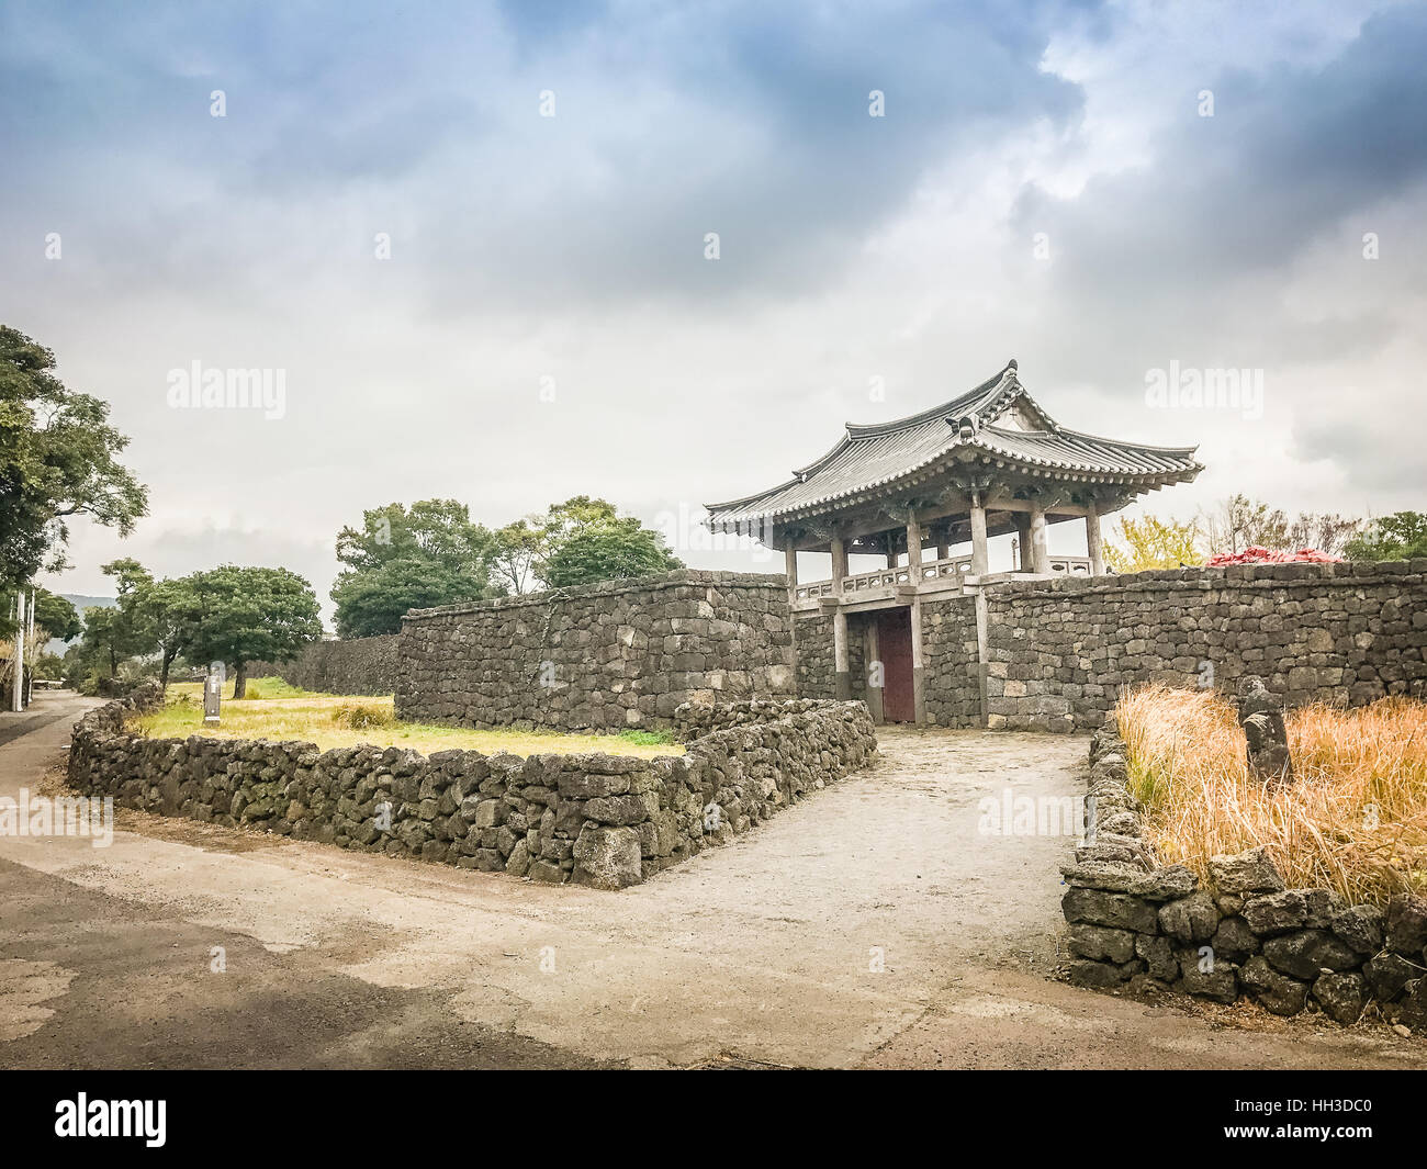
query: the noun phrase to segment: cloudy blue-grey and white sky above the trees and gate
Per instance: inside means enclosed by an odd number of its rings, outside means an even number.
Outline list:
[[[1200,444],[1156,511],[1423,507],[1424,59],[1423,4],[1357,0],[4,0],[0,320],[153,495],[50,584],[325,598],[392,500],[686,530],[1009,357],[1067,425]],[[281,417],[173,408],[193,363],[281,370]],[[1172,363],[1261,410],[1149,401]]]

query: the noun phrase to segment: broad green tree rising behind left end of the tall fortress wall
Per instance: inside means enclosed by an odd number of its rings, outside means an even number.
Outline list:
[[[337,535],[345,568],[332,585],[341,637],[392,634],[411,608],[495,595],[494,537],[455,500],[387,504],[362,512],[361,528]]]

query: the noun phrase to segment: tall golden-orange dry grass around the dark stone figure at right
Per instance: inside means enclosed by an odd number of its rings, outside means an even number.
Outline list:
[[[1274,791],[1250,778],[1234,708],[1214,691],[1146,687],[1116,714],[1166,861],[1204,876],[1216,852],[1264,845],[1290,886],[1350,902],[1427,885],[1427,704],[1290,711],[1296,778]]]

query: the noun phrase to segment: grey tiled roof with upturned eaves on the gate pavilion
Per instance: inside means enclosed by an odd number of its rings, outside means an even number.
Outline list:
[[[993,420],[1019,405],[1039,430],[997,427]],[[838,501],[869,491],[895,490],[899,480],[925,471],[958,448],[997,461],[1077,477],[1139,482],[1146,488],[1192,480],[1203,467],[1194,447],[1147,447],[1067,430],[1046,414],[1022,387],[1016,363],[949,403],[890,422],[848,422],[846,434],[816,462],[793,471],[778,487],[706,504],[708,524],[733,530],[795,514],[835,510]]]

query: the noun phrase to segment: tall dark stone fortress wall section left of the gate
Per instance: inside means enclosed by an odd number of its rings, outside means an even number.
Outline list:
[[[783,577],[681,570],[407,614],[397,715],[461,727],[666,727],[682,702],[793,695]]]

